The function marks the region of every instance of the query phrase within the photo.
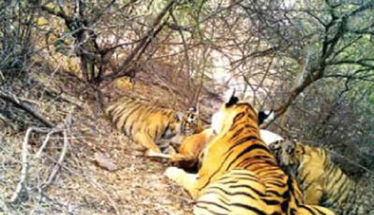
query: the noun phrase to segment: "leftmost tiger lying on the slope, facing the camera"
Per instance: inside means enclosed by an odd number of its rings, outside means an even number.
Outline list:
[[[179,112],[150,106],[124,96],[105,108],[118,130],[143,145],[146,153],[161,152],[164,139],[201,132],[202,123],[196,107]]]

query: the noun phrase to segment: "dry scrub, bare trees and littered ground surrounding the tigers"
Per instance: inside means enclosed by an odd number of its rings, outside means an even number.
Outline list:
[[[0,2],[0,215],[190,214],[166,164],[102,107],[123,94],[198,105],[209,124],[230,87],[374,196],[373,12],[372,0]]]

